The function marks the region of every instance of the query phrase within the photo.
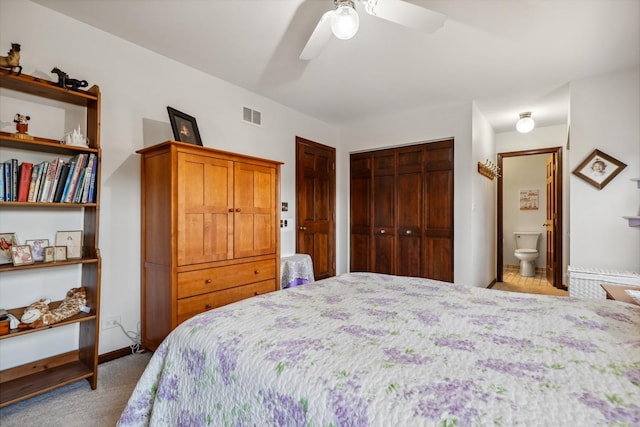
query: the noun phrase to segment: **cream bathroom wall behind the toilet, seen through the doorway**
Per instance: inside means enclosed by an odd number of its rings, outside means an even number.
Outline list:
[[[505,157],[502,161],[503,173],[503,232],[504,265],[518,265],[515,257],[516,231],[537,231],[542,233],[538,241],[539,257],[537,268],[546,266],[546,235],[543,224],[546,221],[546,159],[549,154],[519,157]],[[521,190],[538,190],[538,209],[520,209]]]

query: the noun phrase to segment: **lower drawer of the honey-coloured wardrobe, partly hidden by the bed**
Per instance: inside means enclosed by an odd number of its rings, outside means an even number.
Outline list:
[[[276,280],[264,280],[208,294],[178,300],[178,323],[212,308],[276,290]]]

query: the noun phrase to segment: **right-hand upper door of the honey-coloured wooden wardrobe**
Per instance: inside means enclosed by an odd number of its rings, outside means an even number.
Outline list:
[[[275,169],[236,162],[234,183],[234,258],[275,253]]]

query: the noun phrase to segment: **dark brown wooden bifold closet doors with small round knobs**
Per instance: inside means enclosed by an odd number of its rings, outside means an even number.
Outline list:
[[[453,282],[453,140],[350,163],[351,271]]]

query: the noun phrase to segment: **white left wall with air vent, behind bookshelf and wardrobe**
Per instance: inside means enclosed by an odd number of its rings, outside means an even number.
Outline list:
[[[135,151],[171,139],[167,105],[196,117],[206,146],[284,162],[282,200],[289,202],[289,212],[284,218],[295,218],[295,136],[334,147],[338,142],[338,130],[332,126],[31,2],[0,2],[0,47],[8,50],[12,42],[22,45],[21,64],[26,74],[57,81],[49,71],[58,66],[71,77],[100,86],[101,314],[121,315],[127,330],[135,331],[140,318],[140,160]],[[262,112],[262,127],[241,122],[242,105]],[[1,130],[15,130],[16,112],[13,108],[0,110]],[[32,116],[30,129],[36,129],[36,123],[44,118]],[[0,231],[9,227],[19,237],[26,237],[33,226],[26,219],[8,224],[0,217],[0,221],[3,228]],[[56,230],[48,231],[55,234]],[[339,258],[344,257],[344,247],[337,248]],[[283,231],[283,255],[294,250],[293,231]],[[77,286],[73,278],[69,286],[61,282],[59,269],[48,270],[51,271],[4,274],[0,306],[19,307],[41,297],[62,299],[66,289]],[[62,283],[58,287],[62,286],[64,291],[51,288],[56,280]],[[26,289],[36,292],[29,293]],[[73,333],[68,330],[71,328],[60,329],[67,330],[58,330],[54,335],[66,334],[66,338],[52,336],[50,344],[45,345],[42,339],[49,332],[38,337],[3,340],[0,369],[73,346],[70,338]],[[110,329],[101,333],[99,352],[129,344],[119,329]],[[43,347],[48,350],[42,350]]]

